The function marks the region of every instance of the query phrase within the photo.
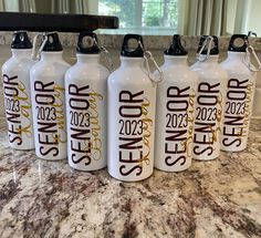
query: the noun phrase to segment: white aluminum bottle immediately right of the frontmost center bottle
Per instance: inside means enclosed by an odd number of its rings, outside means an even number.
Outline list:
[[[164,80],[157,86],[155,167],[180,172],[191,165],[198,76],[188,66],[180,35],[174,35],[164,59]]]

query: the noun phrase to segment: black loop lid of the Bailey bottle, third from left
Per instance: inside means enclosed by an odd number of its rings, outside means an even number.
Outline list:
[[[98,54],[101,50],[97,43],[97,35],[92,31],[81,32],[77,39],[76,51],[82,54]]]

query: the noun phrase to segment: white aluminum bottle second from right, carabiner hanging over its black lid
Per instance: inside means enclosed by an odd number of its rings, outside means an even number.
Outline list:
[[[198,52],[207,37],[201,37]],[[211,46],[212,42],[212,46]],[[191,69],[198,74],[196,92],[194,155],[195,159],[209,161],[220,154],[220,132],[226,94],[227,73],[218,64],[218,38],[212,37],[208,50],[199,55],[199,61]]]

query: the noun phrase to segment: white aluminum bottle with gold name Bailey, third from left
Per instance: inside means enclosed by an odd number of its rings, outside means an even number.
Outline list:
[[[91,45],[84,45],[84,39]],[[108,70],[100,64],[100,46],[93,32],[82,32],[77,62],[65,74],[67,159],[79,170],[106,167],[106,92]]]

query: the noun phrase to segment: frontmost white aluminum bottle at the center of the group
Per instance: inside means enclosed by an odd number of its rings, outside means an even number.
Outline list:
[[[137,41],[134,50],[129,40]],[[136,182],[149,177],[154,168],[156,87],[144,64],[143,39],[124,37],[121,66],[108,77],[108,173]]]

